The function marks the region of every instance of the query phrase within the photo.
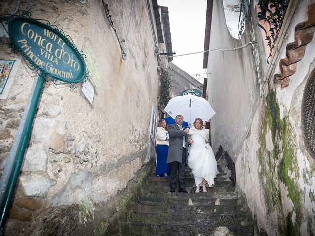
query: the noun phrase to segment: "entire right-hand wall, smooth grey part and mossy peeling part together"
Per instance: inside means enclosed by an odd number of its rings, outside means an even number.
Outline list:
[[[279,72],[279,59],[285,57],[286,45],[295,40],[294,28],[307,20],[307,6],[314,1],[297,2],[298,8],[289,11],[294,15],[278,48],[279,57],[272,67],[264,98],[258,97],[252,48],[209,53],[208,71],[212,73],[208,78],[209,102],[217,112],[211,123],[213,146],[216,149],[222,144],[235,161],[236,186],[252,211],[257,235],[315,234],[315,160],[306,151],[301,130],[303,92],[315,68],[314,38],[297,63],[297,72],[290,76],[289,86],[280,89],[273,83],[273,75]],[[221,0],[214,0],[210,49],[236,46],[226,26],[220,24],[225,23],[221,12]],[[267,57],[256,14],[254,10],[251,16],[263,78]],[[250,41],[249,28],[248,24],[242,42],[238,43],[244,45]],[[237,60],[240,55],[243,58]]]

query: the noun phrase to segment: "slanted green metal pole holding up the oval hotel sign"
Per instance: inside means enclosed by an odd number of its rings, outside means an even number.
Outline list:
[[[37,110],[38,101],[42,93],[45,75],[40,72],[37,81],[34,81],[32,91],[25,107],[23,117],[15,136],[12,148],[7,158],[0,181],[0,235],[3,234],[6,217],[8,215],[11,201],[14,195],[16,182],[19,177],[26,146],[29,141],[34,116]]]

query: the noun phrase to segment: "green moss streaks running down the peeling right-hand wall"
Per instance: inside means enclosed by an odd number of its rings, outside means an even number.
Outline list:
[[[302,190],[296,179],[299,178],[299,169],[296,157],[296,146],[293,142],[292,129],[288,117],[280,118],[279,105],[276,93],[270,89],[267,99],[266,112],[262,118],[260,147],[258,158],[261,166],[260,179],[262,182],[265,203],[268,213],[278,209],[280,235],[299,235],[299,228],[303,220]],[[272,152],[266,147],[268,128],[271,130],[273,143]],[[280,194],[280,181],[287,187],[287,197],[293,203],[293,210],[284,216]],[[294,217],[293,217],[294,216]],[[293,217],[293,218],[292,218]]]

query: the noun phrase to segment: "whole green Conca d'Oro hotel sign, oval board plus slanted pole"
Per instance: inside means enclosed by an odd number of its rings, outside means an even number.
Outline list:
[[[48,21],[44,24],[25,16],[11,18],[7,24],[13,47],[40,73],[34,82],[0,180],[0,235],[5,226],[46,75],[70,84],[80,83],[87,77],[83,55],[70,41],[71,38],[62,33],[62,29],[51,26]]]

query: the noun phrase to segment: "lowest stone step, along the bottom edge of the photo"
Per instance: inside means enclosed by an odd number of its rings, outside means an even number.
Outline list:
[[[230,232],[230,233],[229,233]],[[229,233],[229,234],[228,234]],[[199,224],[120,223],[120,235],[128,236],[253,236],[253,226],[213,226]]]

